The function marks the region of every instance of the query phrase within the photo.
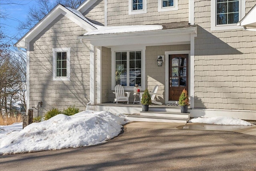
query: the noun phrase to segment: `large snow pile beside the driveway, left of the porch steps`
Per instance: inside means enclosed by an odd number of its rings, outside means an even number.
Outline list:
[[[59,114],[2,137],[0,155],[105,143],[116,137],[127,122],[124,115],[107,111],[82,111],[72,116]]]

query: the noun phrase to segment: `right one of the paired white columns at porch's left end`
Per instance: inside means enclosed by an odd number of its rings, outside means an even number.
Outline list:
[[[101,47],[97,47],[97,103],[101,103],[102,88],[101,88]]]

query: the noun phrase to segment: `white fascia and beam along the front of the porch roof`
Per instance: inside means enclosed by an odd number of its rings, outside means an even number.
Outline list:
[[[130,44],[164,45],[164,44],[184,44],[190,42],[190,35],[196,36],[196,27],[181,28],[172,30],[156,30],[146,32],[132,32],[119,34],[102,34],[92,36],[78,36],[89,40],[94,46],[122,46]]]

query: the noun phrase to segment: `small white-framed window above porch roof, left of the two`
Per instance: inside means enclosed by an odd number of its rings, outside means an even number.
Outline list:
[[[147,13],[147,0],[129,0],[128,14],[144,14]]]

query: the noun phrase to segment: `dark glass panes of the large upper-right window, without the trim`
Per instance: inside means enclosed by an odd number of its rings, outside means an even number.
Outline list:
[[[239,22],[239,0],[217,0],[216,24]]]

